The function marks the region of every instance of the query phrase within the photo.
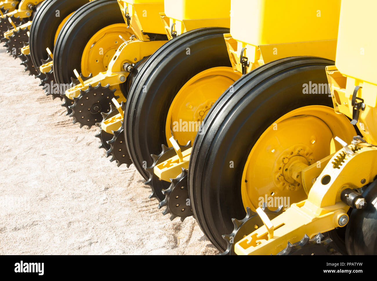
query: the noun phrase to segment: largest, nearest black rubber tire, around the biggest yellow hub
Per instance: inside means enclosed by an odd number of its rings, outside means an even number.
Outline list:
[[[265,64],[236,81],[208,112],[204,134],[198,134],[193,144],[189,195],[199,226],[219,250],[227,247],[221,235],[233,231],[231,219],[245,217],[241,180],[253,145],[268,126],[294,109],[333,107],[328,95],[302,93],[303,84],[309,81],[328,83],[325,66],[333,64],[317,57]]]

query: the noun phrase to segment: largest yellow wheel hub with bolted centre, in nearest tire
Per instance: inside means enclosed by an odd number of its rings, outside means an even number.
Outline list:
[[[275,210],[305,200],[299,172],[342,148],[336,136],[351,141],[355,134],[348,118],[326,106],[301,107],[279,118],[257,140],[245,164],[245,209],[255,211],[267,203]]]

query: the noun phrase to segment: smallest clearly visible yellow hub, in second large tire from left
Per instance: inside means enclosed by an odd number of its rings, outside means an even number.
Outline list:
[[[90,73],[95,76],[107,71],[110,60],[123,43],[119,35],[128,40],[133,33],[127,29],[126,24],[117,23],[106,26],[90,38],[81,58],[81,72],[84,76],[89,76]]]

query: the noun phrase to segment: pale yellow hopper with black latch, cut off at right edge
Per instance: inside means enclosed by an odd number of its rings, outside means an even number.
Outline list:
[[[356,86],[360,86],[356,97],[363,102],[359,110],[357,127],[369,143],[377,144],[377,39],[371,36],[369,27],[375,26],[373,14],[377,2],[343,1],[340,12],[336,67],[328,66],[326,73],[336,112],[352,119],[352,95]],[[362,13],[356,22],[349,18]]]

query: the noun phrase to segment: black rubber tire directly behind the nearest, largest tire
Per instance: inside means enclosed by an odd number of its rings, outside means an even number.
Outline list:
[[[158,155],[161,144],[167,145],[167,113],[179,89],[205,69],[231,66],[224,41],[228,32],[227,28],[200,28],[179,35],[150,56],[136,76],[124,111],[124,132],[132,162],[145,179],[149,175],[143,161],[151,166],[150,155]]]

